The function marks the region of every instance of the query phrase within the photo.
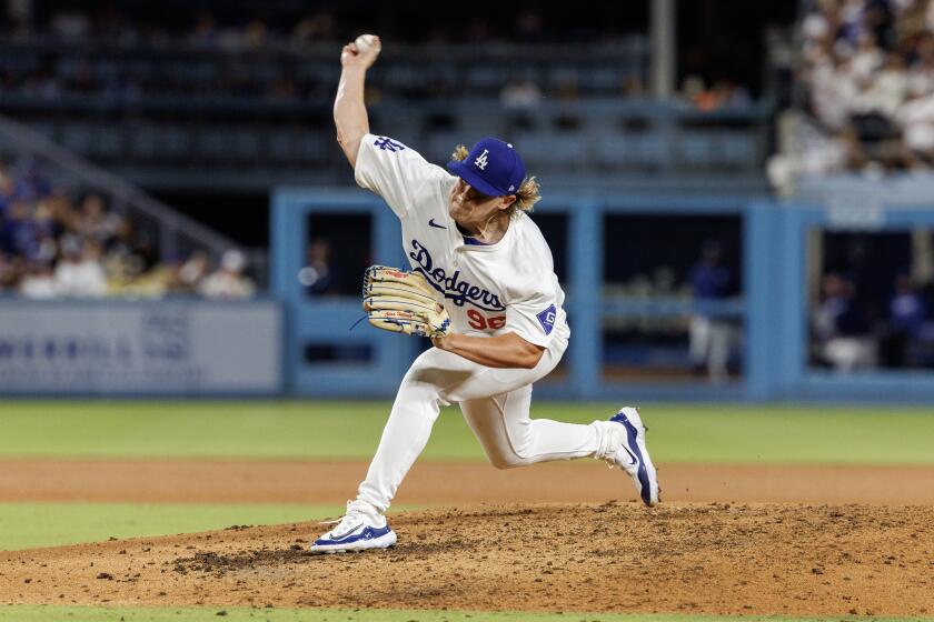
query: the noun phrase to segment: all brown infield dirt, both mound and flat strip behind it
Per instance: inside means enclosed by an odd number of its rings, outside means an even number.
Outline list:
[[[0,462],[2,501],[336,503],[366,468]],[[390,551],[312,556],[327,526],[301,523],[0,552],[0,602],[934,614],[930,468],[678,464],[662,482],[649,510],[595,464],[421,463],[400,502],[459,509],[395,514]]]

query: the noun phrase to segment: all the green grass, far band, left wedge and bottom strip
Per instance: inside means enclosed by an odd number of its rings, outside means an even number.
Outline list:
[[[376,448],[388,408],[386,402],[6,402],[0,405],[0,458],[366,460]],[[534,415],[589,422],[615,410],[612,404],[537,403]],[[643,413],[652,428],[653,455],[662,462],[934,464],[932,409],[648,404]],[[446,409],[423,460],[480,461],[485,457],[459,412]],[[291,504],[0,503],[0,549],[203,531],[236,523],[296,522],[340,511],[339,506]],[[216,620],[218,611],[6,606],[0,608],[0,620]],[[715,619],[252,609],[229,610],[223,618],[316,622]]]

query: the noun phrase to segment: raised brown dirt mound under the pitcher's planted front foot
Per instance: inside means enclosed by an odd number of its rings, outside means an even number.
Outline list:
[[[0,553],[0,601],[891,614],[934,612],[928,506],[475,506],[398,514],[389,551],[317,524]]]

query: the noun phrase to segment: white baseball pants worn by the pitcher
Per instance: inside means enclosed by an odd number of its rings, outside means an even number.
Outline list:
[[[567,338],[556,334],[538,364],[493,369],[431,348],[403,379],[379,448],[357,499],[385,512],[428,443],[441,405],[459,403],[464,418],[498,469],[594,455],[603,428],[530,419],[531,383],[560,361]]]

